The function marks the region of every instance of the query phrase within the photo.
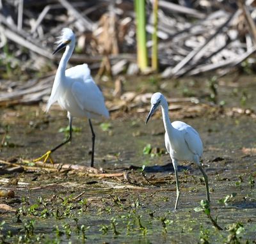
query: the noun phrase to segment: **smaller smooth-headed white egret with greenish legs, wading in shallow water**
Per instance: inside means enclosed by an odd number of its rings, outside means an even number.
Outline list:
[[[175,202],[175,210],[177,209],[180,197],[179,179],[177,172],[177,163],[179,160],[192,161],[196,165],[198,165],[200,171],[204,176],[207,200],[210,201],[208,178],[199,161],[203,153],[203,144],[198,132],[196,132],[196,130],[193,127],[187,125],[182,121],[174,121],[173,123],[170,122],[170,118],[168,116],[168,104],[163,94],[161,93],[154,93],[152,95],[151,109],[150,112],[148,113],[146,124],[148,122],[148,119],[150,119],[152,114],[154,114],[159,105],[161,106],[162,109],[163,122],[165,128],[164,142],[166,149],[172,159],[172,164],[176,178],[177,197]]]

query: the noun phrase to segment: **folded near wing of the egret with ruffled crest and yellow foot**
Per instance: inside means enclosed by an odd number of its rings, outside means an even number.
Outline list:
[[[109,118],[109,112],[104,103],[104,96],[92,77],[87,77],[83,82],[73,82],[71,92],[83,111],[100,114]]]

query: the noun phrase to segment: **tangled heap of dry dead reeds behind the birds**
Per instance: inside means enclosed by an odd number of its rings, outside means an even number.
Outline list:
[[[100,68],[99,77],[104,73],[138,73],[132,1],[18,2],[1,4],[0,46],[4,46],[6,39],[12,43],[8,45],[8,52],[19,62],[21,70],[35,66],[33,69],[38,71],[40,68],[35,65],[40,63],[38,57],[47,62],[59,61],[61,54],[52,56],[52,45],[61,29],[70,27],[79,40],[79,54],[72,55],[71,63],[88,63],[92,69]],[[152,0],[147,2],[148,9],[152,3]],[[205,1],[175,4],[159,0],[158,3],[158,57],[159,68],[164,70],[162,77],[213,71],[223,76],[255,52],[253,15],[256,6],[253,1],[208,1],[207,14]],[[56,14],[58,12],[61,14]],[[147,15],[147,31],[152,33],[151,11]],[[151,45],[149,41],[147,46]],[[3,61],[9,58],[3,48],[0,57]],[[6,66],[3,62],[0,68],[6,70]],[[19,87],[8,93],[0,91],[0,106],[42,101],[51,93],[52,79],[29,80],[26,88]]]

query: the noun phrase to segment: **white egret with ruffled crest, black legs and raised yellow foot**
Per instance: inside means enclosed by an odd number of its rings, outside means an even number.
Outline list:
[[[53,163],[51,153],[72,139],[72,118],[88,118],[90,129],[92,131],[91,167],[93,167],[95,133],[93,132],[91,118],[97,119],[100,118],[100,116],[109,118],[109,112],[104,104],[104,96],[90,75],[88,65],[77,65],[66,70],[68,60],[72,55],[76,43],[76,36],[73,31],[71,29],[64,28],[58,42],[56,43],[58,43],[58,47],[53,54],[64,47],[66,47],[66,49],[61,57],[60,65],[58,66],[58,70],[55,75],[46,112],[49,111],[52,103],[58,101],[60,107],[67,111],[67,117],[69,120],[69,137],[66,141],[62,142],[50,151],[47,151],[47,153],[42,155],[40,158],[36,158],[34,161],[36,162],[44,158],[44,162],[46,162],[49,158],[50,162]]]

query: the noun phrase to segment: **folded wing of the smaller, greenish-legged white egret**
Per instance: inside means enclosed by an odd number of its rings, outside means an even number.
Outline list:
[[[186,128],[186,132],[184,133],[184,139],[186,141],[186,144],[188,145],[189,150],[198,155],[202,156],[203,154],[203,143],[200,139],[199,134],[196,132],[196,130],[188,126]]]

